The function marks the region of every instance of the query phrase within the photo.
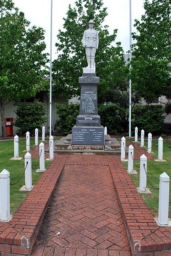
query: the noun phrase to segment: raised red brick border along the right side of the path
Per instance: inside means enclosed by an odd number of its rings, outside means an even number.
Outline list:
[[[108,162],[132,255],[171,255],[171,228],[157,226],[120,158]]]

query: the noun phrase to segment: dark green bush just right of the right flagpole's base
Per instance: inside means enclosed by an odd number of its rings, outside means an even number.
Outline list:
[[[132,130],[137,126],[139,131],[143,129],[146,134],[159,134],[165,119],[165,108],[160,105],[136,104],[133,107],[132,119]]]

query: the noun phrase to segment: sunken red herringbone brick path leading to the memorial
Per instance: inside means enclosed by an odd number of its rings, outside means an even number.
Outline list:
[[[71,155],[65,163],[32,253],[64,255],[131,255],[105,156]]]

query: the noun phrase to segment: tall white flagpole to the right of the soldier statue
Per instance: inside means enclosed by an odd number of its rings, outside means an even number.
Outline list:
[[[130,0],[130,62],[132,59],[132,20],[131,20],[131,0]],[[130,64],[130,72],[131,72],[131,64]],[[131,76],[130,76],[130,103],[129,103],[129,137],[131,137]]]

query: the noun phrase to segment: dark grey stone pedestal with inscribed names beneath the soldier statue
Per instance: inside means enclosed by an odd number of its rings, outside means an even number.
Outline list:
[[[91,68],[89,68],[91,69]],[[82,77],[79,77],[81,85],[80,114],[77,116],[76,125],[72,128],[72,150],[104,150],[104,128],[100,123],[97,110],[97,86],[99,77],[95,73],[89,73],[84,68]],[[94,71],[94,69],[93,69]]]

